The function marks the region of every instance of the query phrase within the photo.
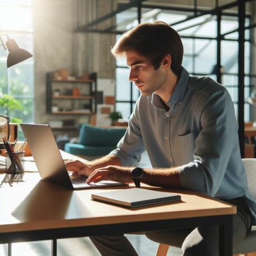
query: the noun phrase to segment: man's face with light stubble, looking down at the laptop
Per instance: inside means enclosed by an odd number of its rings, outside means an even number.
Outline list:
[[[126,51],[127,65],[131,67],[129,81],[132,81],[144,96],[161,90],[166,73],[161,68],[154,70],[150,60],[135,51]]]

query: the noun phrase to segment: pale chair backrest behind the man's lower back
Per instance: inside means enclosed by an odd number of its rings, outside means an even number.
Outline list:
[[[243,163],[247,173],[249,190],[256,198],[256,158],[243,158]]]

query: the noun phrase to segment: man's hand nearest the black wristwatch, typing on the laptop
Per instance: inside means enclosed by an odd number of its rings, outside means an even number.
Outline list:
[[[131,171],[134,167],[121,167],[121,166],[106,166],[95,170],[89,178],[87,183],[99,182],[105,180],[112,180],[122,183],[132,183]]]

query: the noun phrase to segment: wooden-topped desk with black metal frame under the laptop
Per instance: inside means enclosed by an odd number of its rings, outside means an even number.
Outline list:
[[[0,175],[0,181],[4,177]],[[235,206],[195,192],[174,190],[181,195],[181,202],[137,209],[91,200],[92,192],[118,189],[127,186],[72,191],[41,180],[38,173],[25,173],[18,182],[2,183],[0,243],[220,225],[220,255],[232,255]]]

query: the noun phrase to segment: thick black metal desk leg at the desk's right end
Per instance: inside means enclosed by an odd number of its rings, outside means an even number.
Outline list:
[[[233,215],[226,215],[219,228],[219,255],[232,256],[233,255]]]

